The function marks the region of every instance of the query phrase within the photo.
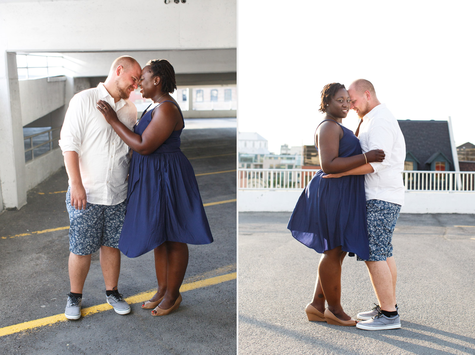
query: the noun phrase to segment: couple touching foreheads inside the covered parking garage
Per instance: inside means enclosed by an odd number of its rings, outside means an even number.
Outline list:
[[[153,104],[137,122],[137,108],[128,98],[138,86]],[[158,288],[142,308],[165,316],[180,306],[187,244],[213,241],[195,173],[180,150],[185,123],[170,95],[176,88],[167,60],[150,60],[142,69],[122,56],[104,83],[69,103],[59,141],[69,176],[68,319],[81,317],[95,251],[100,250],[107,303],[128,314],[130,306],[117,289],[120,251],[135,258],[153,250]]]

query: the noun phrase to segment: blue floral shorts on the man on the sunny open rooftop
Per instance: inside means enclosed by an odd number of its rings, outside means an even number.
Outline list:
[[[370,242],[370,259],[360,261],[385,261],[392,257],[392,232],[399,218],[401,205],[396,203],[368,200],[366,201],[366,220],[368,240]]]

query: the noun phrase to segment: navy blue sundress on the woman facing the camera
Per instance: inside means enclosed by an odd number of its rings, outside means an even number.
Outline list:
[[[320,125],[325,121],[333,120],[324,120]],[[343,137],[338,156],[362,154],[358,138],[348,128],[340,127]],[[296,240],[318,253],[341,245],[350,256],[357,254],[361,259],[368,259],[364,175],[323,179],[324,175],[323,170],[319,170],[307,184],[287,229]]]

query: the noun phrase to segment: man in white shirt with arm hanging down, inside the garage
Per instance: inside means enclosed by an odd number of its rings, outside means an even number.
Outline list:
[[[104,83],[77,93],[66,112],[59,145],[63,151],[69,188],[66,207],[69,229],[69,280],[65,316],[81,317],[81,299],[91,254],[100,250],[106,301],[118,314],[130,307],[117,290],[120,250],[117,249],[125,215],[129,147],[114,132],[97,101],[107,101],[130,129],[137,108],[128,100],[137,88],[142,68],[129,56],[114,60]]]

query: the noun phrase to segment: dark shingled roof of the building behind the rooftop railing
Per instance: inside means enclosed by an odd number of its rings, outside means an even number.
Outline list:
[[[417,170],[430,170],[426,162],[438,152],[450,161],[447,171],[454,170],[447,121],[398,120],[398,123],[406,141],[406,153],[411,152],[420,162]]]

